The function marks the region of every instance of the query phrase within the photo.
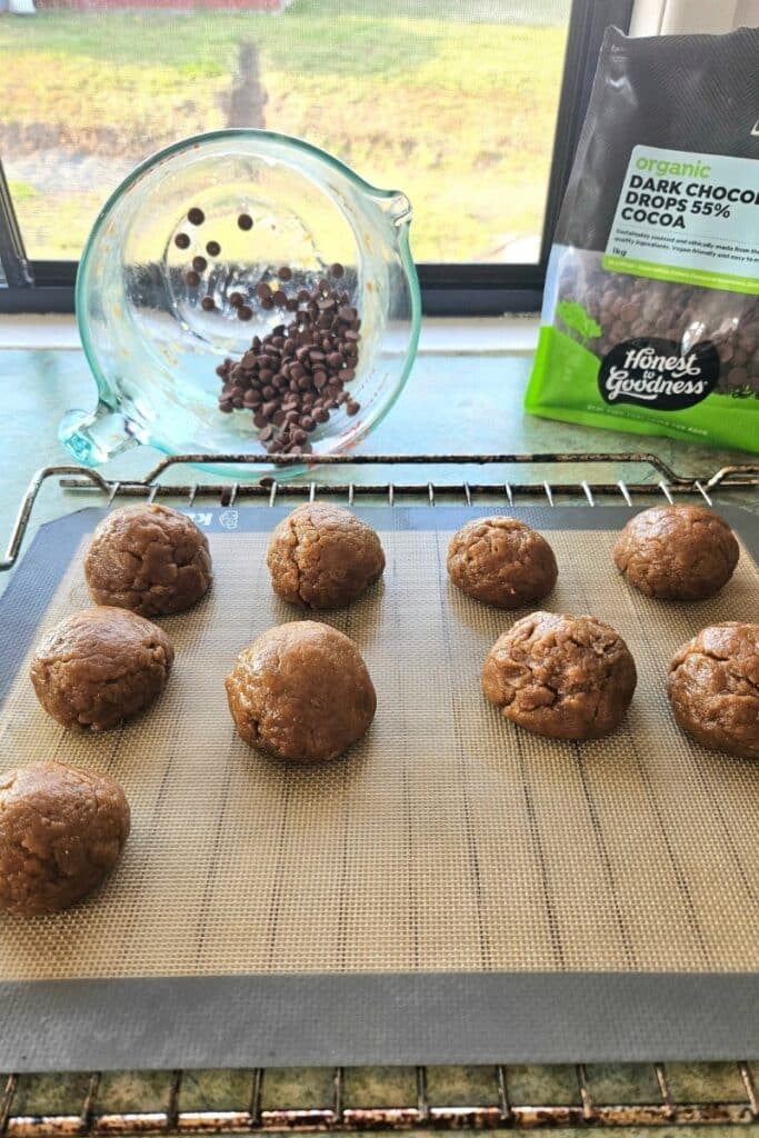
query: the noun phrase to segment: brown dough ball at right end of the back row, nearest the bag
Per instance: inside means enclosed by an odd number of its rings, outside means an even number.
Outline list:
[[[703,601],[733,576],[739,544],[713,510],[657,505],[627,522],[613,558],[630,584],[647,596]]]

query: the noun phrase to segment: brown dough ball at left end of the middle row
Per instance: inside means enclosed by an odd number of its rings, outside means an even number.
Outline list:
[[[64,727],[107,731],[152,703],[173,661],[163,628],[104,604],[48,633],[32,658],[31,677],[40,703]]]

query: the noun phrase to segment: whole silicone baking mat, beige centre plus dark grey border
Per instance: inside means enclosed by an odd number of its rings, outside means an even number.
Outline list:
[[[563,570],[550,607],[611,620],[640,666],[624,732],[577,747],[528,737],[479,693],[481,658],[513,617],[462,597],[443,563],[451,533],[492,510],[365,508],[388,551],[385,584],[325,619],[362,648],[378,718],[347,760],[286,772],[234,740],[220,690],[237,650],[292,617],[263,567],[286,511],[190,512],[217,582],[206,604],[165,621],[178,673],[121,733],[65,735],[23,679],[41,627],[86,603],[79,551],[102,511],[46,527],[3,597],[0,761],[64,748],[109,769],[135,828],[90,905],[6,921],[0,1067],[759,1053],[759,768],[685,740],[662,695],[679,643],[756,612],[751,514],[721,511],[744,544],[723,595],[668,607],[610,568],[628,509],[510,510],[550,531]],[[157,806],[182,825],[156,825]]]

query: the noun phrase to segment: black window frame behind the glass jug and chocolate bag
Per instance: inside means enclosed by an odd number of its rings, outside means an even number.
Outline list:
[[[494,316],[537,312],[561,200],[583,126],[605,28],[629,30],[634,0],[572,0],[546,208],[536,264],[418,264],[422,311],[429,316]],[[30,261],[0,162],[0,313],[74,311],[76,261]]]

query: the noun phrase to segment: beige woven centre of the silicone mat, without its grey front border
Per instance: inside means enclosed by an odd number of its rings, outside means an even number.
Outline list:
[[[527,610],[486,608],[447,583],[451,533],[471,514],[420,510],[414,528],[413,511],[366,510],[383,583],[323,619],[364,654],[377,718],[346,758],[295,769],[249,750],[226,709],[236,653],[302,615],[273,596],[267,533],[246,531],[245,513],[237,530],[214,522],[207,600],[163,621],[175,670],[138,723],[65,732],[20,667],[0,766],[55,758],[107,772],[133,831],[88,904],[0,917],[0,981],[759,970],[759,764],[691,742],[665,696],[679,644],[713,621],[757,619],[745,550],[720,596],[665,604],[617,576],[602,509],[583,511],[591,529],[574,528],[572,509],[543,511],[560,566],[546,607],[609,621],[638,668],[621,729],[577,745],[511,725],[481,694],[487,650]],[[271,526],[281,512],[264,516]],[[88,604],[80,547],[39,632]]]

